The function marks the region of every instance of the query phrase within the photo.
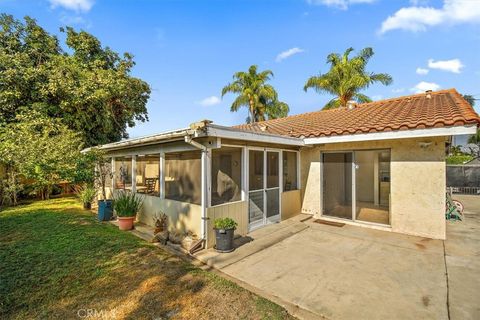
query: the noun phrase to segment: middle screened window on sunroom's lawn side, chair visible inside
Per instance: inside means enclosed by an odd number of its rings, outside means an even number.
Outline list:
[[[139,155],[135,170],[136,190],[152,196],[160,196],[160,155]]]

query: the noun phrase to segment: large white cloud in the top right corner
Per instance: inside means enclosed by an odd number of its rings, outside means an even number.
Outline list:
[[[395,29],[425,31],[440,24],[480,23],[480,1],[444,0],[441,8],[401,8],[382,22],[380,33]]]

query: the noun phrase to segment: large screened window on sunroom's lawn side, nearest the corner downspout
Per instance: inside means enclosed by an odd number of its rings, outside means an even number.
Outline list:
[[[165,198],[201,204],[202,161],[198,151],[165,154]]]

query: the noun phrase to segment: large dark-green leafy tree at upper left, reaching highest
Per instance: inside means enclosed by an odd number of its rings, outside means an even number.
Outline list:
[[[34,19],[0,15],[0,125],[35,110],[81,133],[86,146],[128,137],[147,121],[150,87],[132,77],[132,55],[120,56],[72,28],[63,50]]]

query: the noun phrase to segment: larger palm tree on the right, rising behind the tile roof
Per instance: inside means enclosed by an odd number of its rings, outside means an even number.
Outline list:
[[[374,54],[372,48],[362,49],[358,55],[350,59],[349,55],[352,51],[353,48],[348,48],[343,56],[338,53],[329,54],[327,63],[330,64],[330,70],[327,73],[310,77],[305,83],[303,87],[305,91],[313,88],[319,93],[330,93],[336,96],[323,109],[345,107],[350,100],[360,103],[370,102],[372,100],[360,93],[361,90],[375,82],[383,85],[392,83],[392,77],[389,74],[365,70],[368,61]]]

